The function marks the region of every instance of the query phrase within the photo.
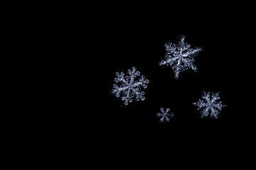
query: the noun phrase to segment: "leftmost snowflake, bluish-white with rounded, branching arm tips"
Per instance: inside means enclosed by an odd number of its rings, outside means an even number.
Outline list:
[[[139,71],[136,72],[135,67],[132,67],[132,70],[128,69],[128,74],[129,76],[124,77],[124,72],[121,72],[120,74],[116,72],[116,78],[114,81],[116,83],[121,82],[121,85],[117,86],[117,84],[113,84],[112,94],[119,97],[120,93],[122,92],[122,101],[124,101],[124,105],[128,105],[129,102],[132,102],[132,98],[134,98],[135,95],[136,101],[139,101],[139,99],[144,101],[145,93],[144,91],[141,91],[140,86],[146,89],[146,84],[149,84],[149,80],[145,79],[145,77],[142,75],[139,78],[139,81],[134,81],[134,79],[140,75]]]

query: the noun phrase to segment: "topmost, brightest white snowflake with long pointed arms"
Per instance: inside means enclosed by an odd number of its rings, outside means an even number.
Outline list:
[[[195,72],[197,70],[196,66],[193,64],[194,57],[202,49],[196,47],[196,49],[191,48],[191,45],[184,42],[185,37],[181,36],[181,40],[178,45],[172,44],[171,42],[166,43],[164,47],[166,48],[166,58],[161,60],[159,65],[170,65],[174,69],[175,78],[178,79],[180,72],[186,69],[193,69]]]

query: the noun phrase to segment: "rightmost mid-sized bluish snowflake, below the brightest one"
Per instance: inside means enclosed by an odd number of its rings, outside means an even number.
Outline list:
[[[201,111],[201,118],[203,118],[204,116],[208,116],[209,113],[210,118],[218,118],[218,114],[220,113],[221,109],[225,107],[225,105],[222,104],[222,101],[218,101],[220,99],[219,93],[213,93],[210,98],[210,92],[206,93],[205,91],[203,91],[202,98],[204,98],[205,101],[199,99],[198,102],[193,103],[193,105],[198,106],[198,110],[203,108],[203,110]],[[219,111],[217,110],[217,108]]]

